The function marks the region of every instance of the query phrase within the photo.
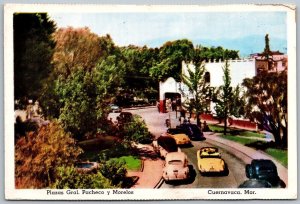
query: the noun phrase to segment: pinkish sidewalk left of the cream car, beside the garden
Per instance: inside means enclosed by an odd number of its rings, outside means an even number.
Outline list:
[[[138,145],[147,154],[153,154],[151,145]],[[155,154],[155,153],[154,153]],[[131,188],[155,188],[162,179],[163,161],[159,158],[144,157],[141,171],[128,171],[127,176],[137,176],[139,179]]]

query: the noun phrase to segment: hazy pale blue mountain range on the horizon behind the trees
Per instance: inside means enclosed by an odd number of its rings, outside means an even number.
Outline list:
[[[272,51],[279,50],[280,52],[286,53],[287,52],[287,40],[279,39],[279,38],[272,38],[269,36],[270,39],[270,48]],[[150,47],[161,47],[167,41],[174,41],[177,39],[153,39],[147,41],[145,44]],[[191,40],[191,39],[190,39]],[[243,38],[237,39],[194,39],[192,40],[194,46],[195,45],[202,45],[206,47],[218,47],[221,46],[224,49],[230,50],[239,50],[240,57],[248,57],[252,53],[262,52],[265,47],[265,36],[248,36]]]

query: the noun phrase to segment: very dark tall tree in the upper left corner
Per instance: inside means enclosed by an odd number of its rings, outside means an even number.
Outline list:
[[[45,79],[53,67],[51,59],[56,29],[46,13],[14,14],[14,94],[15,100],[40,97]]]

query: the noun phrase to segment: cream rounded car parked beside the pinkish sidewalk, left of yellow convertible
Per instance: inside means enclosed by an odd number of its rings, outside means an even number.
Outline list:
[[[190,172],[187,156],[183,152],[171,152],[166,155],[163,179],[165,182],[188,180]]]

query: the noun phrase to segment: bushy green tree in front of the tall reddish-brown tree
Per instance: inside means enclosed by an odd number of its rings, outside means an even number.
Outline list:
[[[68,78],[59,77],[54,92],[59,98],[59,119],[77,139],[106,132],[108,104],[122,84],[122,58],[110,55],[91,72],[78,69]]]

